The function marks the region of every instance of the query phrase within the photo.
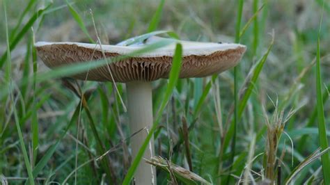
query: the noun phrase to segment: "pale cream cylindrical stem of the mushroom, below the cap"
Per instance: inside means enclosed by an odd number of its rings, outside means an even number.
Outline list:
[[[132,81],[126,83],[127,88],[127,103],[129,114],[129,130],[133,134],[140,129],[152,127],[152,88],[151,83],[148,81]],[[140,131],[131,138],[132,160],[135,159],[136,154],[139,152],[141,145],[146,136],[146,130]],[[154,142],[153,138],[150,141],[151,147],[148,147],[143,155],[143,158],[150,159],[154,156]],[[151,149],[150,149],[151,148]],[[155,184],[156,170],[155,167],[141,160],[138,168],[136,169],[135,184]]]

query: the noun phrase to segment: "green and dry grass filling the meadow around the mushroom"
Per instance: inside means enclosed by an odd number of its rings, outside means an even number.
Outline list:
[[[130,184],[153,135],[157,184],[330,184],[329,1],[47,2],[0,2],[2,182]],[[247,51],[233,70],[178,79],[178,45],[170,78],[152,83],[155,123],[132,161],[125,86],[61,80],[129,56],[48,70],[33,43],[150,35]]]

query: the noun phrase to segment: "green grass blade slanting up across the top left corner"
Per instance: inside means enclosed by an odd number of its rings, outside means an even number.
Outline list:
[[[29,29],[33,26],[33,24],[36,22],[36,20],[38,19],[38,17],[42,17],[44,14],[44,11],[47,10],[49,7],[52,6],[52,3],[49,3],[45,8],[42,8],[40,10],[38,10],[36,13],[34,13],[32,15],[32,17],[29,19],[29,21],[25,24],[25,26],[22,28],[21,31],[19,31],[19,33],[17,33],[17,36],[15,36],[15,38],[13,38],[13,40],[10,40],[10,45],[9,45],[9,49],[7,49],[7,51],[5,51],[3,53],[3,56],[1,56],[0,58],[0,69],[3,66],[3,63],[6,61],[7,58],[7,52],[8,51],[12,51],[13,49],[15,49],[15,47],[17,46],[18,42],[20,40],[22,40],[22,38],[24,38],[24,36],[26,35],[26,33],[29,31]]]

